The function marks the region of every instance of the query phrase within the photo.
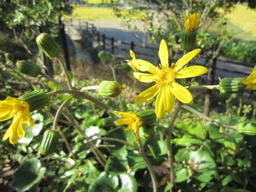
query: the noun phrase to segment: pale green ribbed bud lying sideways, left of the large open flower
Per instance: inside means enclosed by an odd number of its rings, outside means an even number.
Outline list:
[[[121,93],[122,87],[118,82],[104,80],[99,84],[98,91],[103,98],[115,98]]]

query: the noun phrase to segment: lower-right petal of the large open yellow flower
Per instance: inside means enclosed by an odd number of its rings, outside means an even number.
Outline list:
[[[193,100],[192,94],[190,91],[187,90],[187,88],[183,87],[180,84],[173,83],[171,85],[172,93],[174,96],[179,99],[179,101],[188,104]]]

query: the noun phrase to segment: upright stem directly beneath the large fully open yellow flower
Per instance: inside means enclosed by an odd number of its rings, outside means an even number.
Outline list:
[[[178,101],[177,106],[174,110],[174,113],[172,114],[171,121],[169,122],[167,132],[166,132],[166,143],[167,143],[167,148],[168,148],[167,155],[168,155],[168,161],[170,164],[171,190],[172,190],[172,187],[174,187],[174,185],[175,185],[175,172],[174,172],[174,159],[173,159],[172,146],[171,146],[171,133],[172,133],[172,128],[174,126],[174,122],[176,121],[176,118],[177,118],[179,112],[180,112],[180,102]]]

